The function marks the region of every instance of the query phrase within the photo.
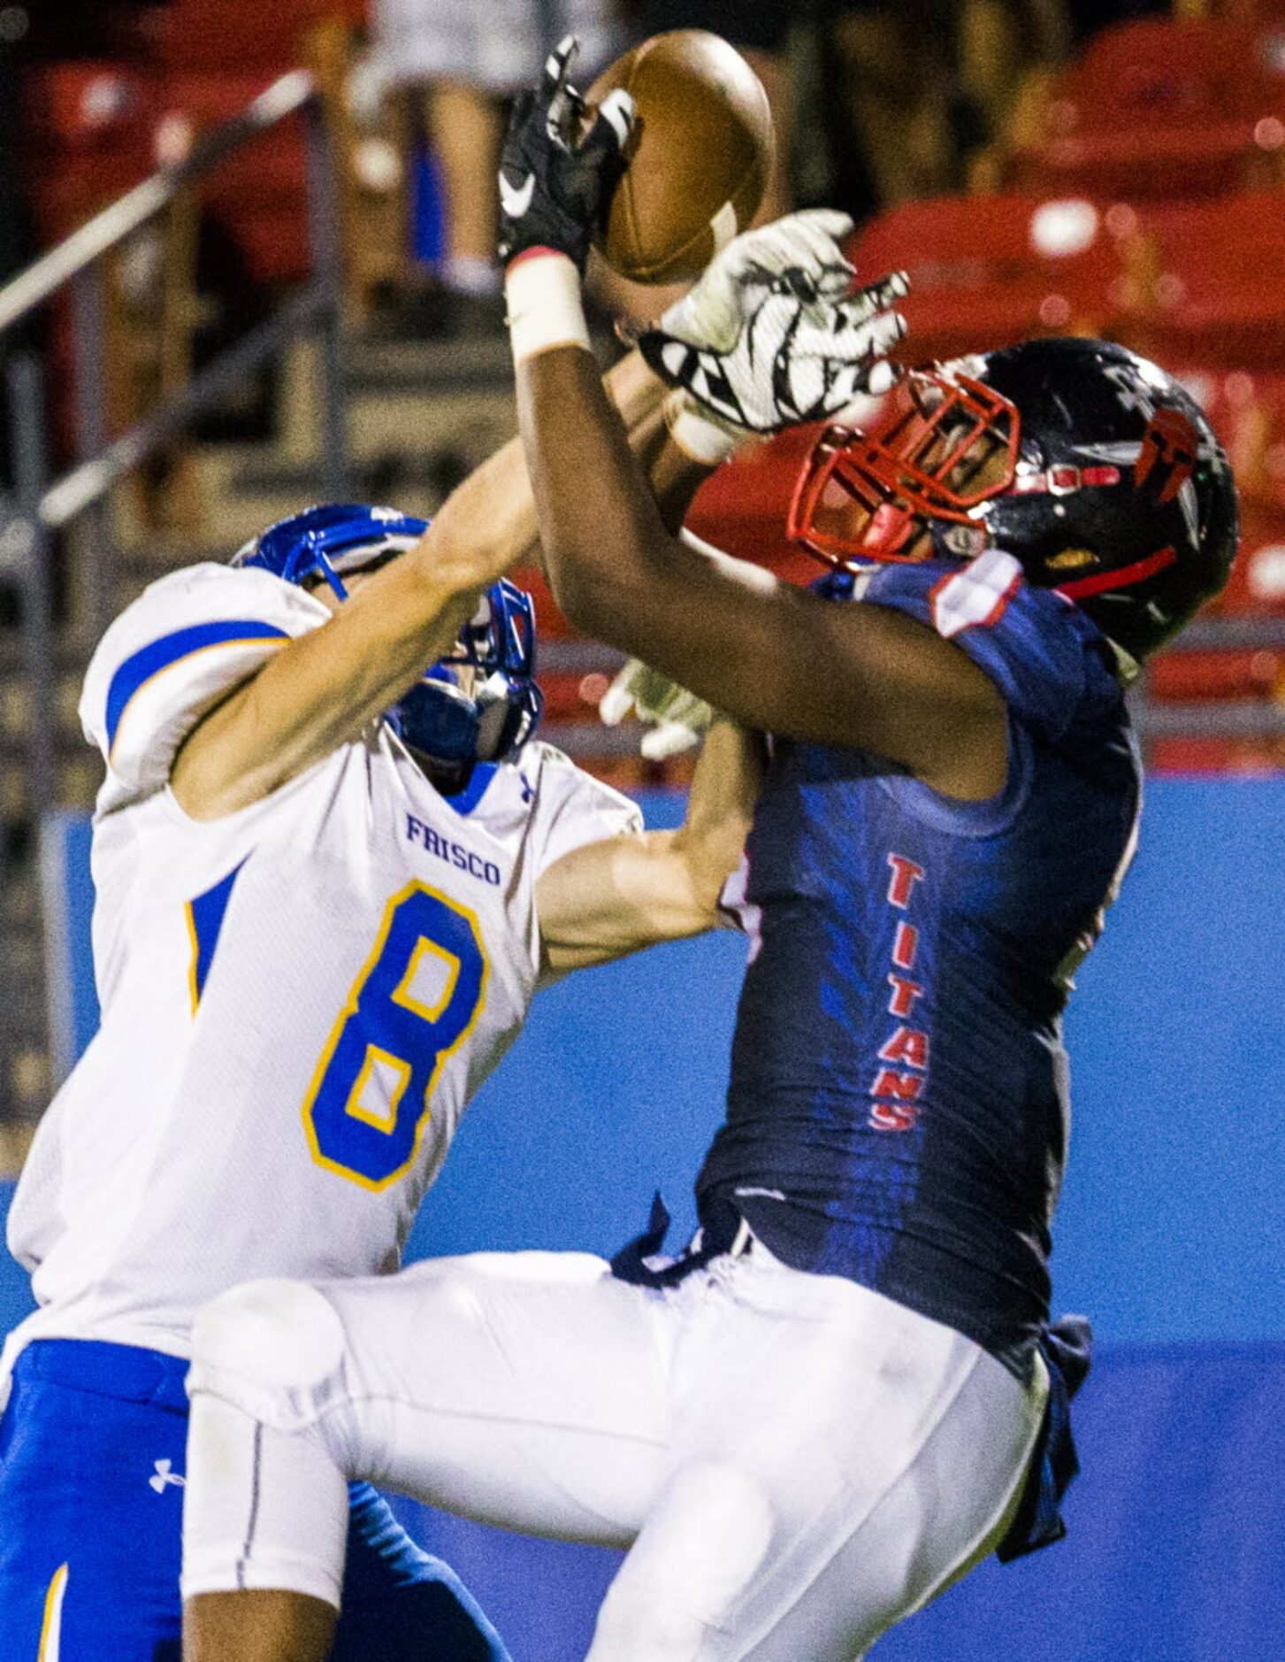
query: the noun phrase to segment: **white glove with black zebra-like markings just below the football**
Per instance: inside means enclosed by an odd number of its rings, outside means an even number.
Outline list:
[[[810,209],[745,231],[639,339],[647,364],[702,411],[777,432],[838,416],[887,392],[885,354],[905,334],[893,309],[906,293],[893,273],[848,294],[853,269],[837,238],[847,214]]]

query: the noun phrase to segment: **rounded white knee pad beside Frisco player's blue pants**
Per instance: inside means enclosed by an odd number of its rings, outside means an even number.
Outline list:
[[[208,1391],[281,1431],[315,1419],[344,1361],[330,1301],[304,1281],[246,1281],[193,1323],[188,1394]]]

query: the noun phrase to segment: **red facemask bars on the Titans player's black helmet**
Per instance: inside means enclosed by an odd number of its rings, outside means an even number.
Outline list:
[[[885,399],[877,432],[827,427],[790,502],[789,535],[847,570],[926,560],[923,520],[976,524],[1018,465],[1018,411],[981,381],[911,371]]]

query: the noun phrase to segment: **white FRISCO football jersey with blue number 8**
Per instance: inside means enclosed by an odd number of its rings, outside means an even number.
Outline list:
[[[470,1097],[540,977],[535,884],[638,808],[548,745],[440,796],[374,723],[214,823],[168,776],[183,736],[329,617],[198,565],[108,630],[81,720],[108,760],[93,836],[101,1027],[48,1109],[8,1218],[40,1310],[12,1336],[186,1355],[252,1276],[397,1268]]]

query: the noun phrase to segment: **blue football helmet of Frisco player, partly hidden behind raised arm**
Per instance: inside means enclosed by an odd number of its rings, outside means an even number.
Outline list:
[[[427,530],[427,520],[395,509],[325,504],[269,525],[232,555],[232,565],[257,567],[287,583],[320,575],[347,600],[345,572],[384,565]],[[503,761],[531,738],[545,708],[535,683],[535,645],[531,597],[505,578],[491,583],[455,652],[432,663],[385,721],[403,743],[448,770]],[[465,665],[473,670],[470,693],[460,685]]]

